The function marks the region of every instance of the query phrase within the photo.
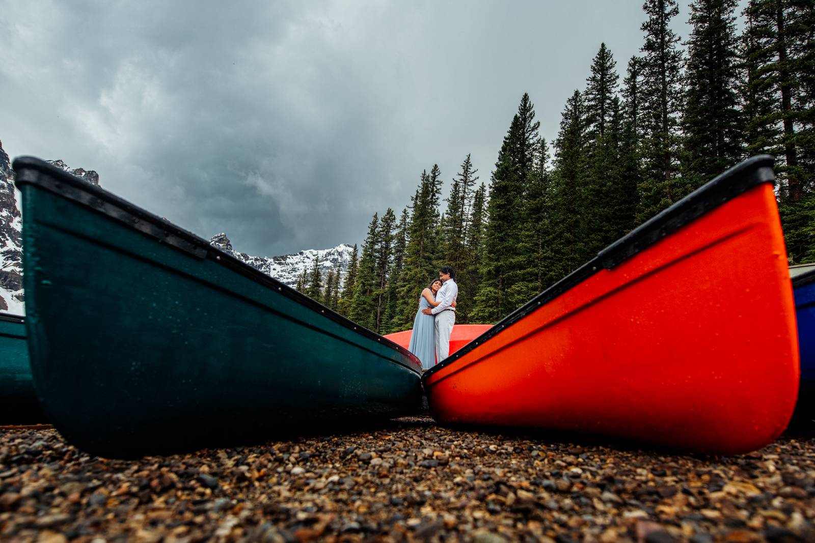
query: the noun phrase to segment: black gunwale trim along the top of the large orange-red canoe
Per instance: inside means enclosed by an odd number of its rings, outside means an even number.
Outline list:
[[[775,181],[775,173],[773,173],[773,164],[775,158],[770,155],[757,155],[741,163],[736,164],[733,168],[727,170],[725,173],[714,177],[710,182],[701,186],[694,192],[685,196],[685,198],[676,202],[671,207],[664,209],[662,212],[654,215],[648,221],[645,221],[634,230],[625,234],[622,238],[608,247],[597,253],[592,260],[586,262],[584,265],[575,269],[571,274],[566,275],[560,281],[556,282],[552,287],[548,287],[545,291],[535,296],[526,304],[509,313],[506,317],[496,322],[489,330],[479,335],[460,348],[456,353],[444,359],[436,366],[425,371],[422,375],[422,383],[427,383],[432,375],[438,371],[443,370],[447,366],[452,365],[460,357],[465,356],[467,353],[499,335],[501,331],[512,326],[516,322],[521,321],[524,317],[534,313],[540,309],[544,304],[561,296],[571,288],[576,287],[581,282],[590,278],[600,269],[614,269],[617,265],[627,261],[637,253],[644,251],[646,248],[654,245],[660,239],[663,239],[668,234],[676,232],[681,227],[689,224],[698,217],[703,216],[705,213],[725,204],[738,195],[742,195],[747,190],[754,186],[759,186],[763,183]]]

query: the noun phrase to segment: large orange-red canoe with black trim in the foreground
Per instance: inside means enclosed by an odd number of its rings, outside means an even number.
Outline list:
[[[431,414],[707,453],[773,441],[799,369],[772,166],[716,177],[434,366]]]

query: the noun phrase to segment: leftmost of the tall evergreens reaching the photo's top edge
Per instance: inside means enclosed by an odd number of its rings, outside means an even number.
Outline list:
[[[679,13],[675,0],[645,0],[648,20],[642,24],[642,112],[645,139],[642,156],[644,179],[640,184],[638,221],[681,199],[689,190],[677,181],[680,156],[680,113],[682,107],[682,52],[679,37],[669,24]]]

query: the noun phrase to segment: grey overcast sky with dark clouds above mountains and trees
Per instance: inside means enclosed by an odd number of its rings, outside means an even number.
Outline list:
[[[742,2],[743,3],[743,2]],[[688,36],[688,7],[674,21]],[[259,256],[363,239],[422,169],[489,181],[528,92],[541,132],[641,1],[0,0],[0,141]]]

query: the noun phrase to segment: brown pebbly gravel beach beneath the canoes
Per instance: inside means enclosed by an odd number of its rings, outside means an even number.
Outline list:
[[[815,431],[706,457],[415,417],[119,461],[2,430],[0,541],[815,541]]]

